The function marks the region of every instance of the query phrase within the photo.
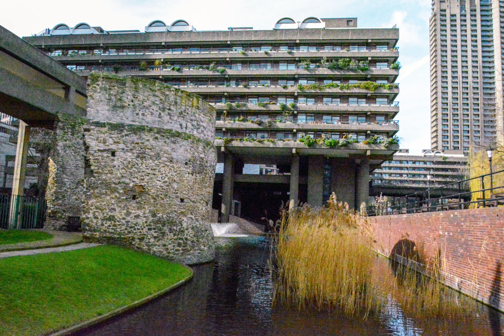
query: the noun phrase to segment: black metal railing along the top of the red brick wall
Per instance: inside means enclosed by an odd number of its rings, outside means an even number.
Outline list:
[[[476,185],[477,190],[474,190]],[[441,196],[431,198],[431,193]],[[497,206],[504,206],[504,170],[435,188],[427,187],[406,196],[379,197],[367,207],[367,214],[383,216]]]

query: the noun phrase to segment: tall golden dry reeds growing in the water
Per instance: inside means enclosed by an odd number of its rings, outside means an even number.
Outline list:
[[[442,249],[428,261],[415,252],[413,261],[421,262],[420,269],[415,262],[396,264],[395,272],[380,268],[371,227],[347,204],[338,203],[334,193],[322,209],[284,211],[275,243],[275,303],[337,309],[363,318],[384,313],[390,300],[419,319],[472,313],[467,309],[471,300],[454,297],[442,283],[448,271]]]

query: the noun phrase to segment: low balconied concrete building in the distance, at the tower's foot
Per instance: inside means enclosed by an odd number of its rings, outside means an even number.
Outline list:
[[[400,149],[393,160],[386,161],[371,175],[371,194],[378,196],[405,196],[427,187],[467,179],[467,156],[462,151],[423,150],[421,155]],[[453,185],[451,189],[459,186]],[[465,190],[467,185],[461,185]],[[441,195],[433,195],[441,196]]]

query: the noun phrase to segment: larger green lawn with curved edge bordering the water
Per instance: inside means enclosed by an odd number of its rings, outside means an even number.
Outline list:
[[[116,246],[0,259],[0,334],[47,334],[156,293],[186,267]]]

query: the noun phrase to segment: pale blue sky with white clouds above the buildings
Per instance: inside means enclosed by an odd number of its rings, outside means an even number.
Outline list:
[[[153,20],[167,24],[185,19],[197,30],[249,26],[272,29],[283,17],[357,18],[359,28],[399,28],[401,148],[420,153],[430,148],[430,0],[2,0],[0,25],[18,36],[30,36],[58,23],[80,22],[105,30],[138,29]]]

